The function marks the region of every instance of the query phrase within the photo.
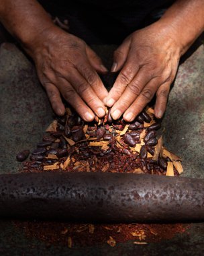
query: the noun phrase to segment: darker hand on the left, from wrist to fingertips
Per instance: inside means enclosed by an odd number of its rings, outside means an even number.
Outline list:
[[[41,35],[32,57],[52,108],[64,115],[60,93],[85,121],[105,115],[107,90],[97,72],[107,71],[83,40],[58,28]],[[95,114],[94,114],[95,113]]]

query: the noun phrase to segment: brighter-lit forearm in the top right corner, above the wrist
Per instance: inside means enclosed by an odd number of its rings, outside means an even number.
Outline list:
[[[204,0],[178,0],[158,21],[173,30],[183,55],[204,30]]]

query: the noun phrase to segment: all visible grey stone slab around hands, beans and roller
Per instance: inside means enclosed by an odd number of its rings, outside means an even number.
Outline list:
[[[94,47],[108,67],[115,46]],[[162,125],[164,143],[183,158],[184,176],[204,177],[203,111],[204,51],[200,46],[178,69]],[[34,67],[13,44],[0,49],[1,90],[1,172],[17,172],[21,166],[15,154],[32,149],[52,120],[48,98],[40,86]],[[28,239],[10,221],[0,222],[1,255],[203,255],[204,224],[191,224],[184,234],[160,243],[133,245],[119,243],[111,248],[46,247],[42,241]]]

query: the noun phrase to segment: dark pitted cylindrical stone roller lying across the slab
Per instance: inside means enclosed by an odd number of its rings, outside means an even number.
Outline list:
[[[204,220],[204,180],[150,174],[0,175],[0,217],[70,222]]]

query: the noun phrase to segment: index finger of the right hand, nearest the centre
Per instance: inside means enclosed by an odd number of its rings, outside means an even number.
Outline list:
[[[138,70],[139,66],[136,65],[133,60],[127,60],[127,63],[125,63],[125,66],[117,76],[113,88],[109,91],[106,100],[107,106],[111,107],[117,100],[119,100],[127,85],[132,82],[132,79],[134,79],[136,73],[138,73]]]

